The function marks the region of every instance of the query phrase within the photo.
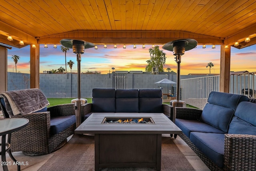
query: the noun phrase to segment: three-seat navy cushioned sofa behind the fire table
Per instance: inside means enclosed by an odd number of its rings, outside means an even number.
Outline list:
[[[164,113],[171,116],[171,106],[162,104],[161,89],[92,89],[92,103],[81,106],[81,120],[92,113]]]

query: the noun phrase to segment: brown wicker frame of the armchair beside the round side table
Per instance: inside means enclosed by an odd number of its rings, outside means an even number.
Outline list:
[[[9,115],[4,106],[0,103],[4,118]],[[67,142],[67,137],[74,134],[76,123],[64,129],[58,134],[50,133],[50,117],[75,115],[75,105],[63,104],[48,107],[46,112],[30,113],[27,115],[15,115],[29,119],[26,127],[12,133],[11,150],[22,151],[24,155],[36,156],[52,153]]]

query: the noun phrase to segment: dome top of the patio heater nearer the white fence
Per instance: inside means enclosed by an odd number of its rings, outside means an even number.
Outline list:
[[[173,51],[173,46],[175,46],[176,43],[184,42],[185,43],[185,51],[191,50],[196,47],[197,41],[194,39],[180,39],[180,40],[174,40],[172,42],[168,42],[164,44],[163,49],[168,51]]]

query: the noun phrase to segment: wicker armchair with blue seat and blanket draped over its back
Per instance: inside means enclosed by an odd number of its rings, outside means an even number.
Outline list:
[[[32,156],[52,153],[67,142],[67,137],[74,134],[76,129],[74,103],[52,107],[44,107],[45,105],[43,105],[43,109],[33,111],[32,113],[10,115],[12,114],[12,108],[8,110],[8,105],[6,106],[8,99],[4,96],[4,93],[14,94],[13,97],[10,96],[13,99],[22,94],[18,100],[22,109],[29,108],[31,110],[34,105],[40,105],[42,101],[49,102],[40,89],[24,89],[0,93],[0,107],[4,118],[24,117],[29,119],[26,127],[12,133],[12,152],[22,151],[25,155]],[[39,95],[40,98],[38,98]],[[33,104],[31,105],[31,103]]]

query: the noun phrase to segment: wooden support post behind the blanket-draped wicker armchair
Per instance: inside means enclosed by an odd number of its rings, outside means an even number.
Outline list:
[[[30,88],[40,88],[39,52],[39,44],[36,44],[36,48],[32,48],[32,45],[30,45]]]

